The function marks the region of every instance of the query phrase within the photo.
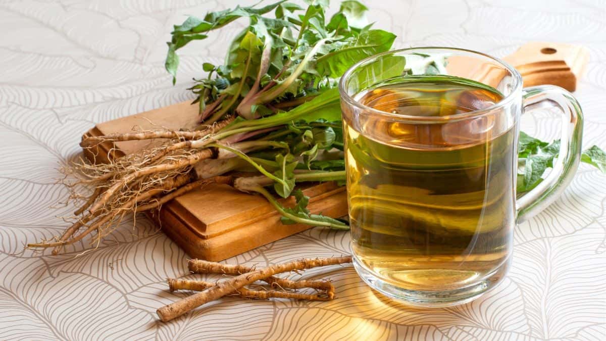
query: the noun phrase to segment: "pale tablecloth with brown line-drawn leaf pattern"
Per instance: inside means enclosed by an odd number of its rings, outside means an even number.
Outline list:
[[[243,1],[244,2],[244,1]],[[247,1],[248,2],[248,1]],[[368,2],[368,1],[367,1]],[[606,339],[606,176],[582,165],[560,200],[515,232],[513,268],[498,290],[448,309],[411,309],[371,291],[351,267],[324,277],[338,298],[308,303],[224,299],[170,323],[164,280],[186,255],[138,217],[93,249],[52,256],[24,244],[59,234],[57,167],[81,156],[95,123],[190,99],[203,61],[219,63],[240,25],[184,49],[176,87],[164,70],[171,24],[237,1],[0,0],[0,339],[538,340]],[[584,44],[585,145],[606,146],[604,0],[373,1],[370,18],[395,47],[455,46],[503,56],[526,41]],[[333,4],[333,7],[337,4]],[[525,130],[553,138],[536,113]],[[349,252],[348,232],[310,229],[228,259],[265,266]],[[77,256],[77,257],[76,257]],[[313,277],[319,271],[309,271]]]

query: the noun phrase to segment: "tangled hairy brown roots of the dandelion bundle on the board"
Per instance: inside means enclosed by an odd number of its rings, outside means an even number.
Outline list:
[[[203,148],[206,144],[215,141],[212,133],[223,129],[233,120],[233,117],[226,118],[218,123],[205,126],[204,130],[193,132],[150,130],[107,135],[83,141],[82,146],[88,147],[105,140],[171,139],[162,146],[124,155],[108,164],[90,165],[82,162],[75,163],[72,168],[66,168],[66,175],[72,174],[76,170],[80,170],[84,175],[80,181],[67,184],[68,187],[93,183],[96,186],[95,191],[85,200],[81,208],[74,212],[75,217],[79,215],[82,217],[76,218],[75,222],[62,232],[61,237],[29,244],[27,247],[54,248],[52,254],[58,254],[62,246],[76,243],[95,230],[99,236],[106,235],[108,231],[111,231],[112,226],[115,226],[116,221],[122,220],[126,212],[140,212],[157,208],[162,203],[195,188],[195,186],[211,182],[212,180],[205,180],[189,184],[195,180],[195,173],[190,172],[191,166],[201,160],[216,157],[215,149]],[[176,181],[176,179],[184,180]],[[231,180],[227,183],[231,184]],[[162,192],[170,191],[172,192],[164,197],[153,199]],[[70,197],[78,198],[79,196],[73,192]],[[83,227],[84,229],[82,229]],[[84,232],[80,231],[81,229]],[[78,232],[81,233],[76,235]]]

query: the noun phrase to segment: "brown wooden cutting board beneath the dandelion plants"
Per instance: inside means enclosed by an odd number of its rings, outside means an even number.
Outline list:
[[[525,86],[554,84],[574,91],[576,80],[588,62],[588,52],[578,46],[536,42],[522,46],[504,59],[521,72]],[[449,71],[456,67],[467,75],[478,72],[487,77],[493,75],[490,66],[470,64],[465,60],[450,62],[448,67]],[[97,124],[83,138],[133,129],[193,128],[197,116],[197,105],[182,102]],[[150,143],[153,142],[106,142],[96,149],[84,150],[84,153],[92,162],[104,163]],[[329,182],[309,184],[303,189],[310,197],[308,208],[311,212],[330,217],[347,215],[345,187]],[[290,198],[282,203],[291,205],[294,200]],[[280,215],[264,198],[236,191],[225,184],[195,189],[169,201],[150,216],[190,257],[211,261],[224,260],[310,228],[300,224],[282,225]]]

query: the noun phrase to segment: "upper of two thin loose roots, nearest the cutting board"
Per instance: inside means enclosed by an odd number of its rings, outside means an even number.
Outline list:
[[[245,265],[231,265],[221,264],[216,262],[208,262],[207,260],[191,259],[188,262],[189,271],[196,274],[228,274],[228,275],[241,275],[247,272],[255,271],[255,268]],[[335,291],[335,288],[330,282],[319,281],[319,280],[288,280],[281,279],[278,277],[267,277],[262,279],[263,282],[271,285],[273,288],[290,288],[290,289],[301,289],[301,288],[312,288],[325,291]]]

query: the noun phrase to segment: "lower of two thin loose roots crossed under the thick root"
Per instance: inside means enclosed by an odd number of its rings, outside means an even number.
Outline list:
[[[183,280],[183,279],[167,279],[168,289],[170,292],[176,290],[191,290],[191,291],[204,291],[205,289],[211,288],[216,283],[204,282],[199,280]],[[300,292],[288,292],[288,291],[262,291],[262,290],[251,290],[247,288],[239,288],[234,295],[238,295],[245,299],[261,299],[266,300],[271,297],[277,297],[280,299],[294,299],[294,300],[311,300],[311,301],[328,301],[330,298],[327,294],[302,294]]]

